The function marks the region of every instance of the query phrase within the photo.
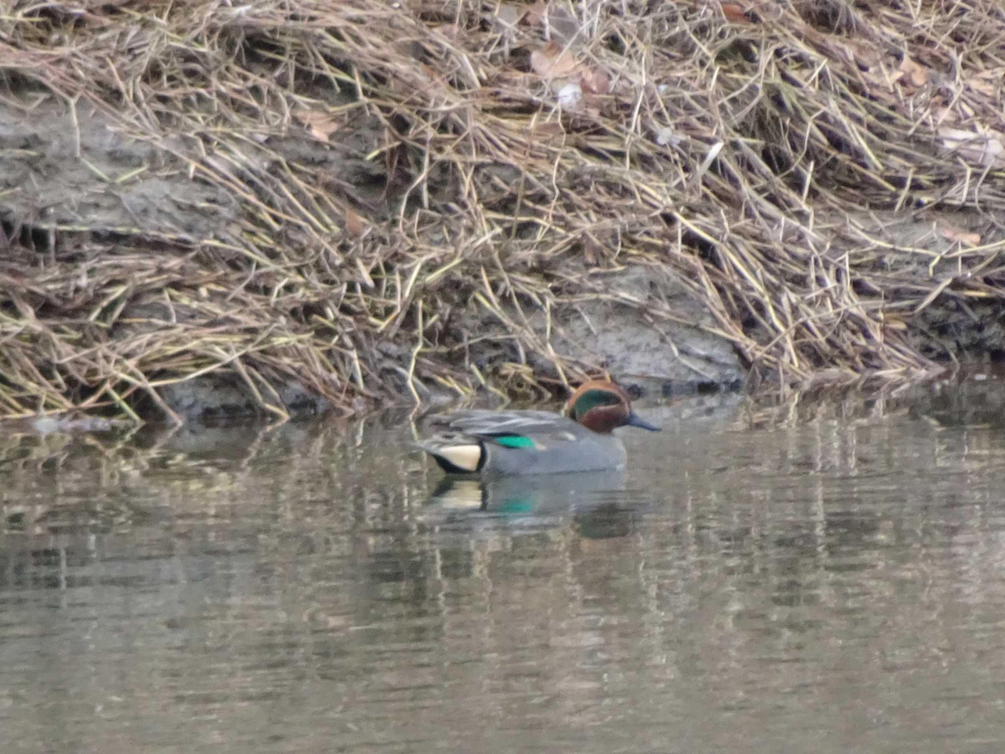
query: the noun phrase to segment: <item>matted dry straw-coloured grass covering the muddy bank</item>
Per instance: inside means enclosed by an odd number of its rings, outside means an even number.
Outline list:
[[[204,235],[8,217],[35,235],[0,265],[0,414],[132,415],[217,370],[277,413],[286,381],[349,410],[428,386],[534,390],[596,365],[557,352],[532,311],[603,298],[693,324],[620,290],[633,265],[674,269],[714,315],[702,327],[783,381],[929,372],[916,318],[1002,299],[1003,241],[942,225],[947,250],[903,247],[853,219],[953,208],[997,230],[997,0],[542,7],[4,4],[8,107],[96,109],[161,156],[138,170],[236,210]],[[361,134],[348,179],[286,149]]]

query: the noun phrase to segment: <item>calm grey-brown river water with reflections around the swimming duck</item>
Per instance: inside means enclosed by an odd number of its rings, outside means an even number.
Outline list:
[[[400,413],[3,431],[0,751],[1002,751],[1002,392],[640,407],[626,475],[488,487]]]

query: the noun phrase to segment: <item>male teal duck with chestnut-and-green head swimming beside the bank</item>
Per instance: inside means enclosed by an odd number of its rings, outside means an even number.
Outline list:
[[[658,432],[635,415],[622,388],[608,381],[580,386],[565,414],[548,411],[455,411],[428,420],[419,443],[447,474],[531,475],[621,468],[626,454],[612,433],[620,426]]]

